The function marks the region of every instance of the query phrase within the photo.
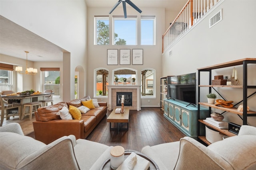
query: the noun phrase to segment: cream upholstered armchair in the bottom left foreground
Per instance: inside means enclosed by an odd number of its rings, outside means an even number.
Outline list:
[[[46,145],[24,136],[18,123],[0,128],[0,169],[99,170],[110,157],[106,145],[64,136]]]

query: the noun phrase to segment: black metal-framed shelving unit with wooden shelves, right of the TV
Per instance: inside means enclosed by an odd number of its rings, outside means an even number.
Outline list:
[[[198,92],[198,108],[200,107],[200,105],[208,106],[209,107],[209,117],[210,117],[210,113],[211,113],[211,108],[216,108],[216,109],[220,109],[220,110],[223,110],[223,111],[228,111],[230,113],[240,115],[240,117],[243,119],[243,125],[247,125],[247,117],[248,116],[256,116],[256,111],[252,111],[252,110],[247,111],[247,109],[246,109],[247,108],[247,99],[248,99],[248,91],[247,90],[248,89],[256,89],[256,85],[254,85],[254,86],[248,86],[247,85],[247,82],[248,82],[247,65],[248,64],[256,64],[256,58],[245,58],[245,59],[230,61],[230,62],[226,62],[226,63],[222,63],[222,64],[216,64],[216,65],[213,65],[213,66],[207,66],[207,67],[204,67],[204,68],[198,68],[198,90],[197,90],[197,92]],[[212,78],[212,70],[213,69],[225,68],[225,67],[237,66],[237,65],[242,65],[243,66],[243,80],[242,80],[243,85],[239,85],[239,86],[234,86],[234,85],[231,85],[231,86],[230,85],[211,85],[211,78]],[[200,84],[200,73],[201,72],[209,72],[209,85],[201,85]],[[222,107],[222,106],[215,106],[214,104],[208,104],[207,102],[200,102],[200,88],[202,88],[202,87],[209,88],[209,93],[212,91],[212,88],[214,88],[214,87],[218,87],[218,88],[242,88],[243,89],[243,96],[242,96],[243,111],[237,111],[237,107],[226,108],[226,107]],[[256,92],[251,94],[251,96],[254,95],[254,94],[256,94]],[[198,115],[200,115],[200,109],[198,109]],[[204,125],[212,127],[213,129],[223,133],[224,135],[235,136],[235,134],[229,132],[228,129],[219,129],[217,127],[214,127],[213,125],[203,121],[199,117],[198,117],[198,121],[200,123],[203,123]],[[198,126],[200,125],[200,123],[198,123]],[[198,134],[199,133],[200,132],[198,132]],[[204,141],[208,145],[211,144],[209,141],[206,140],[205,136],[198,136],[198,138],[201,139],[202,141]]]

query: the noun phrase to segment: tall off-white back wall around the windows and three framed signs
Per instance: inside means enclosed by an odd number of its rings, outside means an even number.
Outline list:
[[[122,6],[121,6],[122,7]],[[109,84],[113,84],[112,70],[116,68],[132,68],[137,70],[137,80],[141,79],[141,70],[144,68],[153,68],[156,70],[156,87],[160,87],[160,81],[158,81],[162,74],[162,33],[165,31],[164,28],[164,8],[140,8],[142,13],[138,13],[133,8],[127,7],[127,15],[136,15],[138,19],[143,15],[155,15],[156,16],[156,45],[94,45],[94,15],[108,15],[109,8],[89,8],[88,9],[88,83],[87,90],[90,96],[93,96],[94,89],[94,74],[93,71],[96,68],[108,68],[109,69]],[[109,17],[112,21],[112,15],[124,15],[122,8],[116,8]],[[111,22],[112,23],[112,22]],[[140,23],[138,21],[138,23]],[[112,25],[110,24],[110,35],[112,31]],[[138,37],[140,37],[140,25],[138,25]],[[110,39],[111,42],[111,39]],[[107,49],[143,49],[143,65],[107,65]],[[119,62],[119,59],[118,59]],[[89,81],[90,80],[90,81]],[[160,88],[157,88],[156,99],[150,99],[150,103],[147,99],[141,100],[142,106],[158,106],[160,103]],[[101,100],[101,99],[99,99]],[[103,101],[107,102],[107,98],[102,98]]]

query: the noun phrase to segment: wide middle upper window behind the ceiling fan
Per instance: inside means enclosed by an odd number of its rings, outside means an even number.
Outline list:
[[[137,45],[137,17],[113,17],[113,45]]]

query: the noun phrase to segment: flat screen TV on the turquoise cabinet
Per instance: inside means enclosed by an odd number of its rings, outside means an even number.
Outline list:
[[[196,73],[168,77],[168,99],[196,104]]]

